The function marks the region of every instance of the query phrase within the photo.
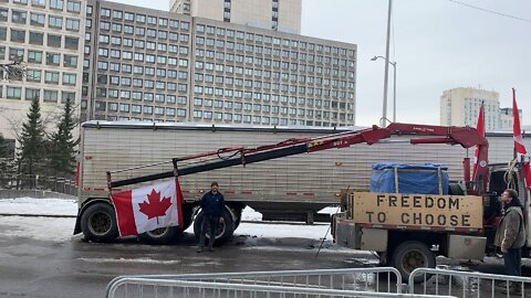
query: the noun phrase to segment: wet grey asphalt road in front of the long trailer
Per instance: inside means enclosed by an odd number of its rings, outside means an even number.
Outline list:
[[[6,228],[11,226],[0,224],[0,235]],[[198,254],[188,233],[179,243],[164,246],[135,240],[98,244],[81,237],[61,242],[0,237],[0,297],[104,297],[108,281],[119,275],[348,268],[376,263],[366,252],[337,249],[329,241],[315,257],[319,245],[308,238],[235,236],[214,253]]]

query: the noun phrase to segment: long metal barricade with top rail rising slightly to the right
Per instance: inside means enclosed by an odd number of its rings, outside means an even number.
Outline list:
[[[116,288],[122,286],[122,291],[136,287],[143,291],[152,285],[171,284],[174,281],[197,281],[197,288],[207,285],[223,285],[223,287],[269,287],[280,294],[280,288],[302,288],[311,290],[340,290],[348,292],[400,294],[402,276],[392,267],[381,268],[348,268],[348,269],[315,269],[315,270],[279,270],[279,272],[249,272],[249,273],[219,273],[219,274],[189,274],[189,275],[136,275],[119,276],[107,286],[107,297],[115,297]],[[152,284],[149,284],[152,283]],[[183,288],[183,284],[171,284],[171,287]],[[274,288],[274,289],[273,289]],[[232,288],[236,289],[236,288]],[[113,295],[111,296],[111,291]],[[249,292],[248,292],[249,294]],[[329,292],[330,294],[330,292]],[[129,296],[126,296],[129,297]],[[138,296],[143,297],[143,296]],[[152,297],[152,296],[149,296]],[[173,297],[173,296],[169,296]],[[181,296],[178,296],[181,297]],[[187,297],[187,296],[185,296]],[[194,297],[194,296],[190,296]],[[204,296],[201,296],[204,297]],[[218,297],[218,296],[205,296]],[[223,296],[225,297],[225,296]],[[231,296],[233,297],[233,296]],[[239,296],[237,296],[239,297]],[[246,296],[241,296],[246,297]],[[248,296],[251,297],[251,296]],[[273,296],[274,297],[274,296]],[[284,297],[284,296],[282,296]],[[290,297],[290,296],[288,296]],[[295,297],[295,296],[291,296]],[[299,297],[299,296],[298,296]],[[313,297],[313,296],[308,296]],[[335,296],[330,296],[335,297]],[[352,296],[345,296],[352,297]],[[364,296],[365,297],[365,296]],[[366,296],[371,297],[371,296]],[[373,296],[374,297],[374,296]],[[382,296],[379,296],[382,297]]]

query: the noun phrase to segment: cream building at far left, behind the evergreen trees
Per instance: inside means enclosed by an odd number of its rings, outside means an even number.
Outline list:
[[[0,132],[7,139],[14,141],[35,96],[49,130],[66,99],[79,108],[84,13],[81,0],[0,0],[0,65],[20,61],[27,70],[11,76],[0,67]]]

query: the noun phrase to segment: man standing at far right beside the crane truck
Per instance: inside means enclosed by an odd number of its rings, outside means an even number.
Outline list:
[[[522,252],[525,243],[525,228],[522,214],[522,204],[518,192],[507,189],[501,194],[503,214],[496,232],[496,246],[503,254],[503,264],[507,275],[521,276]]]

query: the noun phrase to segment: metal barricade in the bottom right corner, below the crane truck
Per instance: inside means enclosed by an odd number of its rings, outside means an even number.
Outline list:
[[[415,278],[423,277],[421,284]],[[525,295],[528,290],[528,295]],[[452,295],[457,297],[531,297],[531,278],[457,272],[437,268],[417,268],[409,275],[408,291],[423,295]]]

